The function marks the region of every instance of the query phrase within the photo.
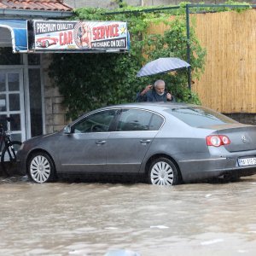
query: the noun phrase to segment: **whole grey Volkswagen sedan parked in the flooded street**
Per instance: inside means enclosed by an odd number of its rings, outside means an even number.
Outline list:
[[[58,176],[136,174],[176,185],[256,173],[256,126],[185,103],[142,102],[85,113],[17,153],[36,183]]]

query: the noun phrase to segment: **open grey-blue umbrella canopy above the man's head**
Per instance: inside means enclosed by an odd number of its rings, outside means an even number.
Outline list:
[[[137,73],[137,77],[150,76],[157,73],[166,73],[180,68],[190,67],[189,63],[179,58],[159,58],[148,62]]]

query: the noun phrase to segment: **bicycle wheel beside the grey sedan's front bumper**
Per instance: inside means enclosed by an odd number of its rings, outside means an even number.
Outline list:
[[[10,176],[15,174],[20,174],[17,164],[16,164],[16,152],[20,148],[21,143],[18,141],[14,141],[8,143],[2,151],[1,154],[1,165],[3,168],[3,172]]]

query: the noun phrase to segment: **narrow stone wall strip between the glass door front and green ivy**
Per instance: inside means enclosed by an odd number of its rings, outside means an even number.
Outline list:
[[[66,119],[66,109],[61,105],[61,96],[52,79],[49,78],[50,54],[42,56],[42,68],[44,78],[44,113],[45,113],[45,133],[60,131],[69,120]]]

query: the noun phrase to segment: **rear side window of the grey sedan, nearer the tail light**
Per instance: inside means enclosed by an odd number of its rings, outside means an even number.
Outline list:
[[[120,115],[117,131],[154,131],[159,130],[163,119],[140,109],[124,109]]]

